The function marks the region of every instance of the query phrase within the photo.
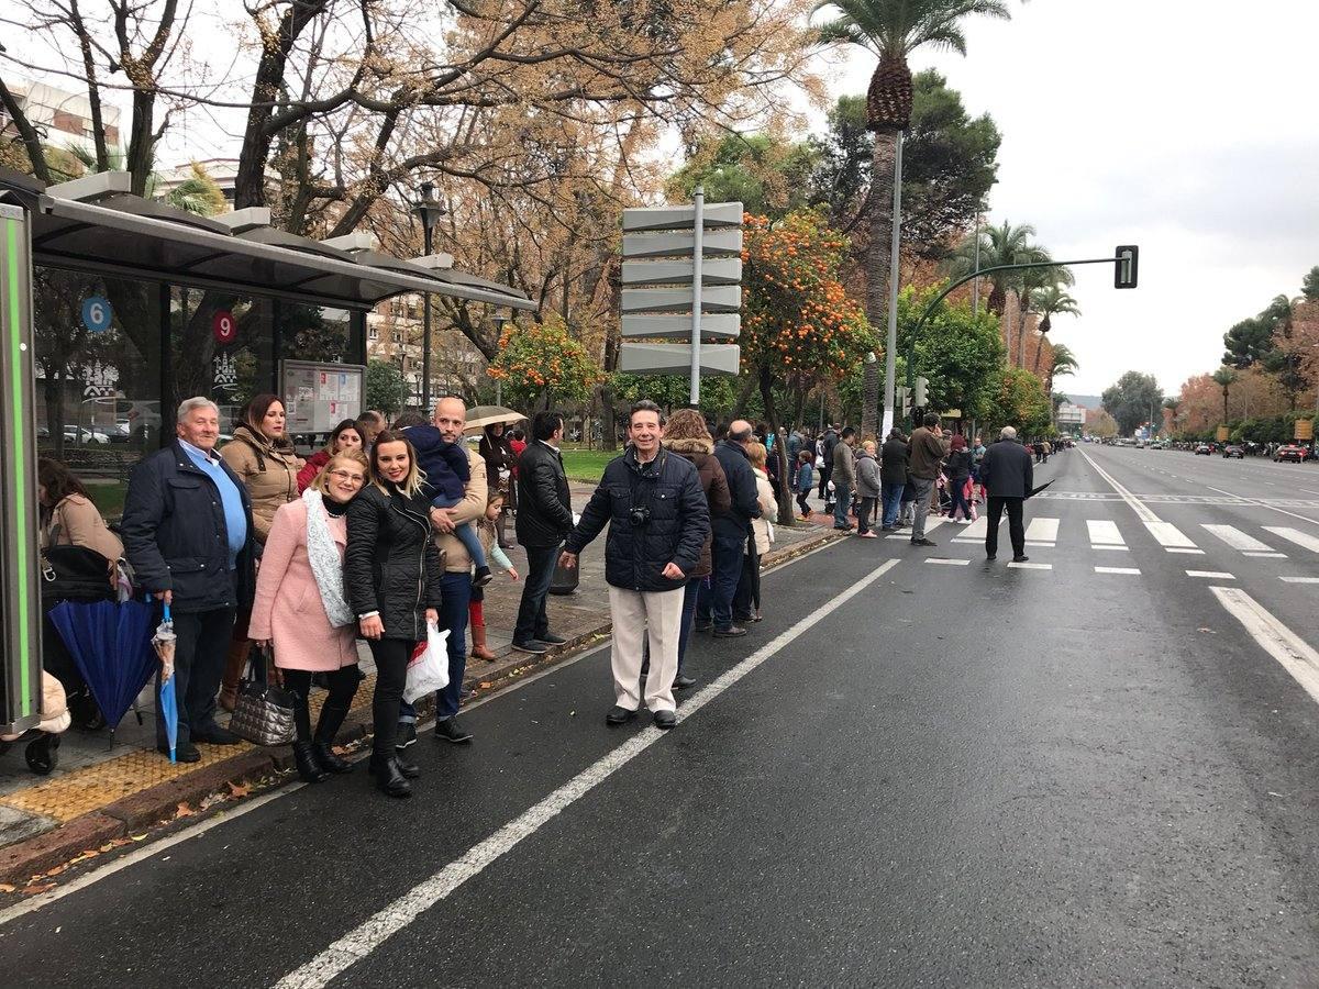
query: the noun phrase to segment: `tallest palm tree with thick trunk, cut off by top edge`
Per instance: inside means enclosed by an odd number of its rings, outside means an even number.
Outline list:
[[[865,316],[881,326],[888,310],[892,273],[892,239],[901,215],[892,208],[902,189],[902,132],[911,123],[911,69],[907,55],[918,47],[952,49],[967,54],[967,38],[960,21],[972,15],[1009,17],[1004,0],[820,0],[815,11],[832,8],[838,17],[820,28],[824,45],[845,44],[864,47],[880,59],[865,94],[865,127],[874,133],[873,169],[868,212],[871,243],[865,261]],[[886,193],[892,190],[893,199]],[[878,194],[876,194],[878,193]],[[885,404],[893,401],[897,340],[889,320],[885,348]]]

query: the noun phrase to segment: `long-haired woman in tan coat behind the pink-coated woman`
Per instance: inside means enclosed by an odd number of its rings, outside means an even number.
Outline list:
[[[274,513],[281,505],[297,500],[298,471],[302,469],[302,460],[285,430],[284,402],[278,396],[259,394],[248,402],[244,421],[235,427],[233,439],[220,448],[220,456],[243,481],[252,500],[253,537],[260,554],[270,534]],[[232,711],[237,700],[239,678],[252,645],[247,634],[248,614],[239,612],[230,658],[224,663],[220,707],[226,711]]]

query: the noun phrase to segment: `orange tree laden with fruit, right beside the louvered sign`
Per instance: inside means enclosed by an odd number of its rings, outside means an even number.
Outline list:
[[[818,214],[802,210],[773,223],[747,215],[744,231],[741,371],[754,377],[765,418],[777,431],[776,386],[787,388],[799,406],[811,388],[847,377],[869,351],[878,349],[878,339],[840,280],[847,239]],[[786,481],[786,462],[780,467]],[[785,484],[780,518],[791,517]]]

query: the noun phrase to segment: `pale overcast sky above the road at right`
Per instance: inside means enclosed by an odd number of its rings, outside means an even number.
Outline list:
[[[1002,132],[989,220],[1030,223],[1054,257],[1141,248],[1140,287],[1078,268],[1082,316],[1053,339],[1099,394],[1129,369],[1175,394],[1223,334],[1319,264],[1319,3],[1033,0],[967,24],[967,58],[917,51]],[[1231,16],[1228,16],[1231,13]],[[864,92],[848,57],[835,92]]]

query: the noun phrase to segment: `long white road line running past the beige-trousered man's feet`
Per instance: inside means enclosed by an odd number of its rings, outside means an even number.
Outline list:
[[[785,646],[799,641],[805,632],[851,601],[896,567],[897,563],[896,559],[890,559],[880,564],[868,576],[856,582],[847,591],[834,597],[834,600],[818,608],[793,625],[793,628],[777,636],[773,641],[766,642],[731,670],[725,671],[719,679],[678,708],[678,721],[686,721],[706,704],[741,680],[747,674],[773,658]],[[451,895],[468,880],[479,876],[488,865],[517,847],[522,839],[534,835],[541,827],[586,796],[596,786],[663,738],[663,736],[665,732],[661,732],[658,728],[646,728],[632,736],[632,738],[578,773],[534,807],[510,820],[484,841],[472,845],[460,858],[454,860],[384,910],[368,918],[352,931],[348,931],[348,934],[306,964],[289,972],[276,982],[276,989],[319,989],[328,985],[331,980],[369,957],[376,948],[408,927],[408,924],[430,910],[430,907]]]

